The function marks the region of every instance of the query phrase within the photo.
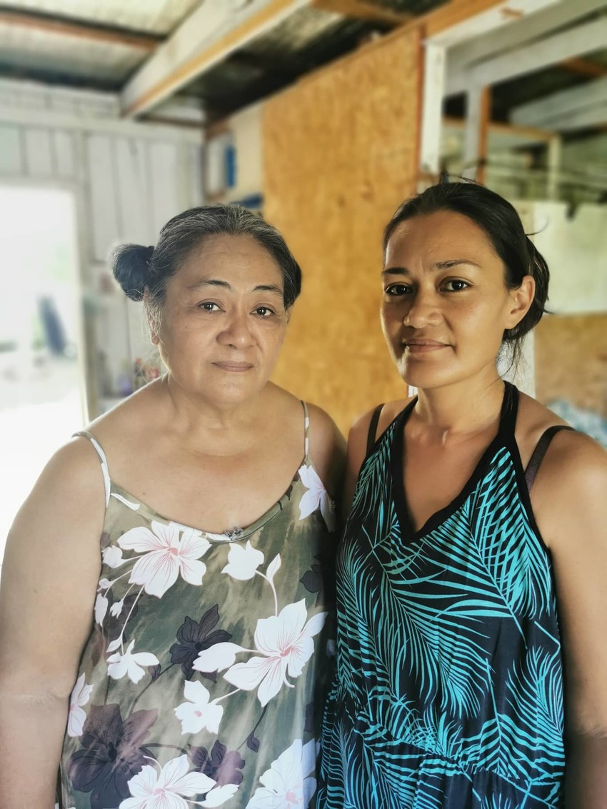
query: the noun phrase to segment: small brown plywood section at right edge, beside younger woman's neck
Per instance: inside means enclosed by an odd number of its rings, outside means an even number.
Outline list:
[[[554,315],[535,330],[537,398],[607,417],[607,315]]]

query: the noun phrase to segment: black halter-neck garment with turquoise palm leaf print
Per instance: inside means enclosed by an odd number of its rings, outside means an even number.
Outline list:
[[[317,807],[562,806],[558,616],[514,436],[518,398],[507,384],[497,436],[419,531],[402,478],[415,401],[367,454],[337,560]]]

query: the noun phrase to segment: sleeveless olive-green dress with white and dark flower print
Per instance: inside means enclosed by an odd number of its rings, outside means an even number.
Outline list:
[[[316,790],[332,673],[334,510],[308,455],[244,530],[164,519],[104,472],[93,629],[60,809],[295,809]]]

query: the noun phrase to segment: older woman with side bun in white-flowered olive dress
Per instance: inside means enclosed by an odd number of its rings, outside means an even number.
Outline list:
[[[307,806],[342,438],[269,381],[299,266],[226,206],[113,264],[168,372],[55,455],[11,531],[0,806],[51,809],[57,766],[66,809]]]

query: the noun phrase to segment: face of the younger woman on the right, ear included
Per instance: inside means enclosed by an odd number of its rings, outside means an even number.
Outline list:
[[[504,329],[533,300],[533,278],[508,290],[502,260],[472,219],[437,211],[394,231],[382,273],[381,324],[401,377],[440,388],[495,378]]]

